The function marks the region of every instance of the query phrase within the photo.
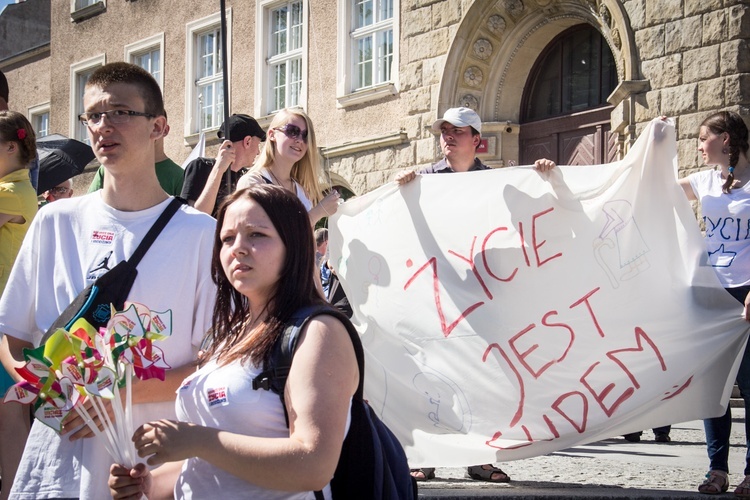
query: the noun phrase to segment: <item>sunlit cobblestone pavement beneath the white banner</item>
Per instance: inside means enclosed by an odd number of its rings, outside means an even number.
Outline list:
[[[702,421],[672,426],[671,443],[656,443],[650,430],[639,443],[621,436],[502,464],[506,484],[465,477],[465,468],[438,468],[436,478],[419,483],[420,498],[734,498],[742,480],[745,411],[732,409],[730,488],[724,495],[701,495],[708,468]]]

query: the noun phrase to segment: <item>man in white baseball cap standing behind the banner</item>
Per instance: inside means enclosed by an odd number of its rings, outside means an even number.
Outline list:
[[[487,170],[488,167],[476,157],[476,150],[482,140],[482,119],[470,108],[450,108],[443,117],[432,124],[432,130],[440,134],[440,149],[443,159],[420,169],[400,172],[395,181],[406,184],[416,178],[417,174],[442,174],[451,172],[472,172]],[[547,159],[537,160],[534,167],[546,172],[555,167],[555,162]],[[471,465],[467,467],[470,478],[492,483],[507,483],[510,476],[492,464]],[[434,467],[412,469],[411,475],[417,481],[427,481],[435,477]]]

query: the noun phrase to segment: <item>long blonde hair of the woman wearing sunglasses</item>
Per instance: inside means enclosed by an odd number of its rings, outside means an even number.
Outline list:
[[[273,117],[268,130],[283,127],[291,121],[293,116],[298,116],[304,120],[307,125],[307,152],[299,161],[292,166],[291,176],[297,184],[302,186],[307,196],[313,202],[313,205],[320,203],[323,199],[323,193],[318,183],[318,173],[320,172],[320,158],[318,156],[318,146],[315,142],[315,129],[312,120],[307,114],[300,109],[284,108]],[[276,161],[276,143],[270,138],[265,142],[263,151],[258,155],[250,172],[258,172],[262,169],[270,169]]]

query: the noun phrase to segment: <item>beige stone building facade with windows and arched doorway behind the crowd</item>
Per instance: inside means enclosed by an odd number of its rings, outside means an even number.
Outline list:
[[[172,128],[167,153],[181,162],[200,130],[212,152],[221,121],[211,100],[220,83],[218,0],[27,3],[50,5],[50,49],[27,62],[18,54],[0,59],[23,96],[11,100],[14,108],[31,115],[46,106],[50,131],[75,137],[86,73],[105,62],[148,61],[156,48],[151,63],[158,63]],[[301,106],[315,123],[325,168],[360,194],[401,169],[436,161],[430,124],[457,105],[481,116],[479,156],[495,167],[539,156],[611,161],[649,120],[667,115],[676,119],[679,164],[689,171],[700,167],[695,138],[703,118],[719,109],[749,113],[750,6],[741,0],[226,5],[231,111],[267,125],[279,103]],[[286,45],[274,45],[282,31]],[[368,39],[370,59],[358,45]],[[274,80],[279,68],[284,78]]]

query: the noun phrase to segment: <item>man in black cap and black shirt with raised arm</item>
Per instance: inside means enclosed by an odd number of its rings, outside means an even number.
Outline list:
[[[237,181],[253,165],[266,140],[255,118],[234,114],[222,123],[217,132],[225,139],[219,146],[216,159],[196,158],[185,167],[182,198],[201,212],[216,216],[219,203],[234,191]],[[224,174],[231,171],[232,189],[227,191]]]

